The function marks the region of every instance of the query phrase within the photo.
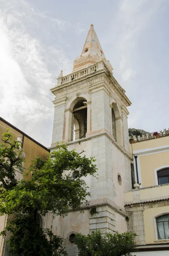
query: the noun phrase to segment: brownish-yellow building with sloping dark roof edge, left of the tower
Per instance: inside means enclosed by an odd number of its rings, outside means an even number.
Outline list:
[[[6,131],[6,129],[10,129],[10,132],[12,135],[18,137],[21,136],[22,140],[22,148],[25,153],[25,159],[26,163],[24,164],[25,171],[29,168],[31,161],[34,159],[34,157],[41,157],[43,160],[46,160],[46,158],[49,155],[49,150],[38,143],[36,140],[29,137],[24,132],[20,131],[18,128],[11,125],[9,122],[4,120],[0,117],[0,142],[2,141],[2,134]],[[20,174],[22,176],[22,174]],[[28,177],[23,175],[23,179],[30,179],[31,174],[29,174]],[[4,230],[4,227],[6,226],[6,221],[8,219],[8,215],[0,216],[0,232]],[[6,240],[8,239],[9,234],[7,234],[6,238],[3,239],[2,236],[0,236],[0,256],[7,256],[6,252]]]

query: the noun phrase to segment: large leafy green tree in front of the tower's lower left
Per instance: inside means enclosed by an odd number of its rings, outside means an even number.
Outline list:
[[[83,152],[83,151],[82,151]],[[29,172],[32,180],[21,180],[11,189],[1,188],[0,215],[8,214],[5,230],[12,235],[9,238],[11,256],[59,256],[66,255],[62,239],[51,230],[37,224],[37,213],[45,216],[51,212],[66,216],[69,207],[80,209],[80,204],[90,195],[82,177],[94,175],[95,159],[82,157],[75,150],[68,151],[66,144],[57,144],[46,162],[37,158],[32,162]],[[4,158],[0,154],[0,158]],[[78,171],[73,179],[72,171]]]

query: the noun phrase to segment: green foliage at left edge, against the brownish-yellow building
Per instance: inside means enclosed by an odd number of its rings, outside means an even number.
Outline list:
[[[0,143],[0,188],[11,189],[17,185],[15,169],[23,172],[23,149],[9,129],[3,133]]]

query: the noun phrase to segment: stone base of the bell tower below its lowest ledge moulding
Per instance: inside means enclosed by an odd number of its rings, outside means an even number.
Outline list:
[[[63,246],[68,256],[77,256],[77,247],[71,243],[71,234],[91,234],[94,230],[101,230],[102,234],[123,233],[127,231],[126,213],[119,209],[109,198],[101,198],[82,204],[83,212],[69,209],[65,218],[57,216],[52,220],[52,215],[44,219],[44,226],[52,228],[52,232],[63,237]]]

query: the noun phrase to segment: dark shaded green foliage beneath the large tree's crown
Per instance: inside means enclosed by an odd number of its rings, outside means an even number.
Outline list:
[[[5,236],[6,231],[13,234],[8,242],[11,256],[67,256],[63,239],[49,229],[40,228],[31,215],[15,215],[1,235]]]

